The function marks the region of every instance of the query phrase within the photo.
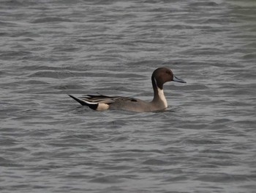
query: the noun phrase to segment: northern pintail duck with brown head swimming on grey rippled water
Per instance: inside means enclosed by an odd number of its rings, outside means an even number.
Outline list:
[[[154,90],[154,98],[151,102],[122,96],[86,95],[80,98],[76,98],[73,95],[69,96],[81,105],[89,106],[89,108],[97,111],[105,111],[107,109],[136,112],[161,111],[167,108],[167,101],[163,90],[165,82],[186,83],[184,80],[174,76],[173,71],[169,68],[157,68],[151,76],[151,81]]]

